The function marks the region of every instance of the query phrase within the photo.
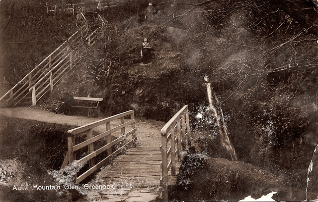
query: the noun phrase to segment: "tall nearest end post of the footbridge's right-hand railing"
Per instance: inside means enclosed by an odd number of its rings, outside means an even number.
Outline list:
[[[166,134],[161,133],[161,168],[162,168],[162,200],[168,201],[167,141]]]

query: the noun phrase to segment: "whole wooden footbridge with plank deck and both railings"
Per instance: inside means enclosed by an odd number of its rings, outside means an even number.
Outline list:
[[[168,201],[168,185],[175,184],[182,153],[186,150],[189,140],[188,106],[180,109],[158,134],[147,138],[143,135],[141,144],[136,136],[134,111],[126,111],[99,121],[68,131],[68,154],[62,165],[75,162],[76,166],[88,162],[89,168],[76,177],[81,183],[86,177],[95,175],[103,184],[113,184],[116,188],[162,187],[162,199]],[[110,122],[120,120],[119,125],[110,128]],[[93,136],[92,130],[97,126],[105,126],[105,131]],[[87,140],[76,143],[76,136],[86,134]],[[112,138],[114,136],[115,138]],[[106,139],[104,146],[94,149],[96,141]],[[87,147],[87,155],[77,152]],[[106,154],[105,154],[106,153]],[[121,155],[120,155],[121,154]],[[103,155],[102,158],[97,158]],[[97,159],[100,159],[97,161]],[[109,163],[97,174],[96,171]],[[74,161],[76,160],[76,161]]]

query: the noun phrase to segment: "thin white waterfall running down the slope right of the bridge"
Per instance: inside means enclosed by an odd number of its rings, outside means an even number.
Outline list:
[[[230,159],[229,160],[238,160],[237,154],[235,152],[235,149],[232,146],[231,141],[230,141],[229,136],[228,136],[228,130],[227,130],[226,126],[225,126],[222,109],[220,108],[221,118],[222,118],[222,126],[221,126],[220,121],[218,119],[218,112],[217,112],[216,108],[213,105],[211,83],[208,81],[209,79],[208,79],[207,76],[204,77],[204,80],[205,80],[206,86],[207,86],[208,100],[209,100],[209,109],[211,111],[212,116],[215,117],[215,121],[216,121],[216,124],[217,124],[217,127],[218,127],[218,131],[219,131],[219,134],[220,134],[221,148],[223,148],[225,150],[225,152],[227,152],[230,155]]]

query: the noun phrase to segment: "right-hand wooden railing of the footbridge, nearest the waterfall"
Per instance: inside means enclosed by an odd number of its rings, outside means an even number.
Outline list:
[[[163,201],[168,201],[168,172],[171,170],[171,176],[176,175],[175,161],[180,161],[181,152],[190,146],[189,136],[188,105],[184,105],[161,129],[160,151],[162,176],[160,185],[162,186]]]

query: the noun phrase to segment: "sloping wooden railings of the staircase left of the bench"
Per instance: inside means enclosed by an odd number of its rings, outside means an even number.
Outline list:
[[[57,49],[51,52],[34,69],[32,69],[25,77],[23,77],[17,84],[15,84],[8,92],[6,92],[0,98],[0,101],[2,100],[4,101],[2,104],[8,103],[9,101],[11,101],[12,103],[16,101],[16,103],[13,105],[15,106],[17,103],[19,103],[23,98],[27,96],[27,94],[25,94],[26,92],[30,92],[32,90],[32,106],[35,106],[37,97],[39,97],[40,99],[43,97],[45,93],[48,92],[44,89],[47,89],[48,86],[50,86],[51,87],[50,89],[52,92],[53,86],[55,85],[53,84],[53,81],[55,79],[52,78],[52,73],[54,75],[55,74],[54,71],[60,71],[61,67],[59,66],[66,60],[67,57],[69,58],[71,57],[71,54],[74,52],[74,50],[77,50],[77,48],[74,46],[77,46],[79,44],[78,39],[83,38],[85,43],[87,43],[89,47],[95,44],[95,41],[96,41],[95,35],[97,31],[100,30],[101,27],[106,24],[101,16],[98,16],[98,19],[101,20],[102,25],[100,25],[97,29],[95,29],[91,34],[88,34],[88,24],[87,24],[87,21],[84,20],[85,25],[79,27],[79,29],[71,37],[69,37],[63,44],[61,44]],[[72,58],[70,58],[70,60],[71,59]],[[72,68],[70,64],[67,66],[62,64],[62,67]],[[65,70],[63,70],[62,72],[64,71]],[[61,73],[57,75],[61,76]],[[43,83],[43,81],[47,82],[48,76],[50,76],[49,78],[50,85],[44,86],[44,89],[42,89],[39,93],[37,93],[36,92],[37,89],[43,86],[43,84],[41,83]],[[62,77],[64,77],[64,75],[62,75]],[[22,86],[19,86],[21,84]],[[43,92],[45,93],[42,95]],[[8,95],[9,97],[6,98]]]

